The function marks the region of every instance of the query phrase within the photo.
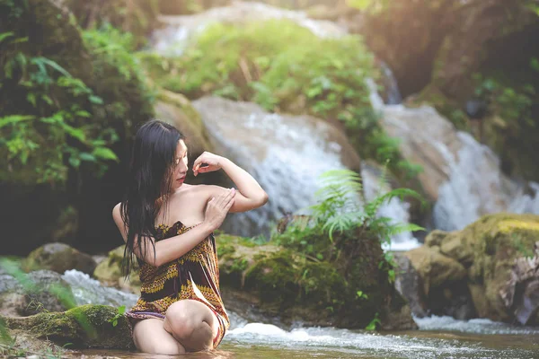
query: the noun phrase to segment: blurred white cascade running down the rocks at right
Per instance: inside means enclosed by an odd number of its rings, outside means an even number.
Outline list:
[[[436,109],[384,104],[376,85],[368,84],[385,130],[401,139],[406,159],[423,166],[420,181],[437,198],[435,228],[461,230],[482,215],[504,211],[539,214],[538,184],[509,179],[488,146],[457,131]]]

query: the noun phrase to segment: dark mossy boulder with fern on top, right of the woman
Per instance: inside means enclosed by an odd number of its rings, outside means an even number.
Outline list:
[[[416,328],[394,289],[393,259],[381,243],[391,233],[419,227],[376,217],[386,200],[415,193],[401,189],[371,202],[363,198],[360,209],[350,198],[360,190],[358,174],[329,171],[326,180],[332,185],[319,193],[313,214],[285,218],[270,241],[217,236],[225,305],[229,296],[233,305],[243,299],[288,324]],[[234,311],[242,311],[244,305],[237,306]]]

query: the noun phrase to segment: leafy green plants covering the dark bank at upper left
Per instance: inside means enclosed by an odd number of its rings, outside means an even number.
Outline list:
[[[70,171],[83,169],[100,178],[119,161],[113,150],[118,129],[123,135],[129,120],[149,118],[152,94],[145,91],[140,66],[129,53],[130,35],[104,27],[84,33],[83,43],[75,26],[55,27],[54,34],[66,36],[58,39],[62,50],[45,55],[40,47],[49,44],[39,40],[49,39],[52,29],[44,28],[45,39],[36,39],[21,26],[33,16],[44,16],[39,20],[45,23],[51,14],[35,13],[40,11],[57,8],[0,3],[2,179],[63,186]],[[65,22],[62,16],[58,13],[57,19]]]

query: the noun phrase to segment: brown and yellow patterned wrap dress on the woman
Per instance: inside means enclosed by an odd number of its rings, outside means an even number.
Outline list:
[[[199,224],[190,227],[186,227],[181,221],[172,224],[171,227],[160,224],[156,228],[159,235],[155,241],[185,233]],[[166,310],[173,302],[192,299],[206,304],[216,314],[219,330],[214,338],[214,348],[218,346],[230,327],[230,320],[219,291],[219,267],[213,233],[180,258],[160,267],[150,266],[139,258],[137,261],[142,283],[140,298],[126,312],[131,337],[136,320],[147,318],[164,320]]]

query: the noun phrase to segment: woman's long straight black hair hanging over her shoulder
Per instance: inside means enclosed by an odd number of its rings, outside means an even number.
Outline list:
[[[176,127],[158,119],[137,129],[128,171],[128,186],[120,205],[120,214],[128,227],[122,271],[126,278],[133,267],[135,236],[137,248],[146,253],[146,238],[157,236],[155,220],[172,190],[172,170],[176,148],[185,136]],[[164,213],[167,213],[165,210]],[[141,258],[142,259],[142,258]],[[139,262],[140,263],[140,262]]]

